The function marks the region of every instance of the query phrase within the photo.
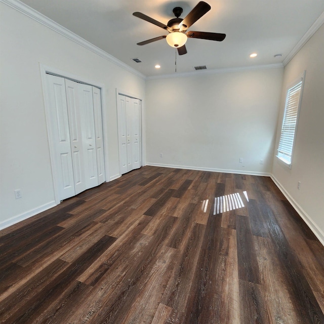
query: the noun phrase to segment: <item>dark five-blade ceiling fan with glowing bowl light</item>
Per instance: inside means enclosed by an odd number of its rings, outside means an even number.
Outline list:
[[[134,12],[133,15],[145,21],[148,21],[158,27],[161,27],[169,32],[168,35],[162,35],[155,38],[147,39],[147,41],[137,43],[137,45],[146,45],[160,39],[167,39],[170,46],[178,49],[179,55],[187,53],[185,43],[187,38],[200,38],[209,39],[210,41],[222,42],[226,34],[216,32],[205,32],[205,31],[187,31],[187,29],[194,24],[199,18],[203,17],[208,11],[211,10],[211,6],[204,1],[200,1],[184,18],[179,18],[182,14],[182,8],[176,7],[173,9],[173,13],[176,18],[168,21],[167,25],[146,16],[140,12]]]

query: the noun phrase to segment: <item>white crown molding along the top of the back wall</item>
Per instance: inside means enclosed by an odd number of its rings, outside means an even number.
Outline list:
[[[184,73],[147,76],[146,80],[176,78],[176,77],[186,77],[186,76],[200,76],[206,74],[231,73],[231,72],[251,71],[251,70],[253,71],[253,70],[275,69],[280,67],[283,68],[284,65],[282,63],[277,63],[277,64],[268,64],[268,65],[225,67],[225,68],[213,69],[213,70],[198,70],[198,71],[184,72]]]

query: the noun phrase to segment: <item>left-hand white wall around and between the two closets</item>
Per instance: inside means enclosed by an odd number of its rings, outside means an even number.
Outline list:
[[[119,173],[116,88],[144,98],[145,80],[7,5],[0,6],[1,228],[54,201],[39,64],[104,85],[110,177]],[[21,189],[22,198],[15,199],[15,189]]]

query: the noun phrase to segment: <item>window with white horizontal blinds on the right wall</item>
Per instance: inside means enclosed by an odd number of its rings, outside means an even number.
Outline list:
[[[289,167],[292,165],[293,149],[296,137],[299,107],[305,72],[287,91],[284,120],[282,121],[277,157]]]

